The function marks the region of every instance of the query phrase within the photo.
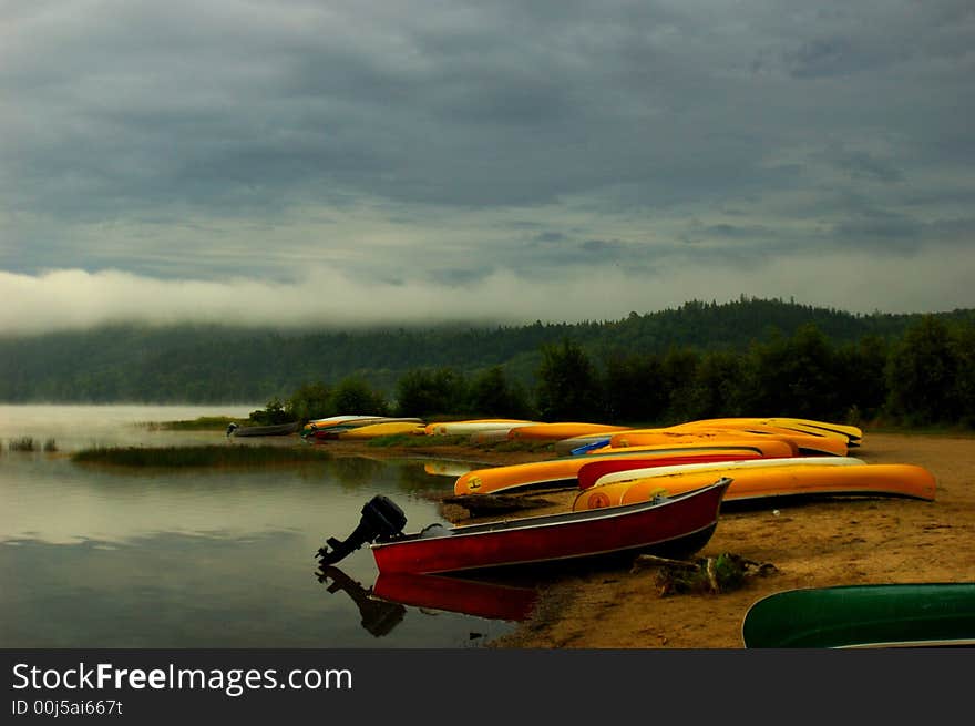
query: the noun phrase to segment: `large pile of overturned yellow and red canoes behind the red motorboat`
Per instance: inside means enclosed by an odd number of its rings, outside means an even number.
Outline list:
[[[634,429],[585,422],[524,423],[507,438],[551,440],[567,456],[475,469],[454,482],[458,497],[578,489],[575,511],[676,495],[721,477],[725,501],[799,495],[933,500],[935,480],[910,463],[868,464],[851,457],[859,428],[812,419],[723,418]],[[561,447],[560,447],[561,444]]]

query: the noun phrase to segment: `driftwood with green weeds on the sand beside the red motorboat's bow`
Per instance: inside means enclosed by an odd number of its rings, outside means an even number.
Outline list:
[[[731,592],[743,586],[751,577],[764,577],[779,571],[771,563],[746,560],[728,552],[712,558],[700,558],[694,562],[640,554],[634,561],[630,572],[637,573],[647,569],[656,571],[656,585],[660,595]]]

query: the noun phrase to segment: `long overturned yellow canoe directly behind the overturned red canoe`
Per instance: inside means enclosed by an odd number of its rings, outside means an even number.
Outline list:
[[[527,489],[566,489],[578,485],[578,470],[598,459],[670,459],[676,456],[692,457],[715,453],[736,453],[755,456],[755,449],[733,449],[715,447],[675,447],[669,449],[623,449],[606,454],[587,454],[531,461],[527,463],[488,467],[469,471],[454,482],[454,494],[497,494]]]

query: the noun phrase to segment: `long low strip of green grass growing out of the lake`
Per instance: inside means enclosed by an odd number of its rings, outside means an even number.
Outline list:
[[[188,469],[204,467],[267,467],[320,462],[330,458],[314,447],[197,446],[197,447],[95,447],[71,459],[79,463],[115,467]]]

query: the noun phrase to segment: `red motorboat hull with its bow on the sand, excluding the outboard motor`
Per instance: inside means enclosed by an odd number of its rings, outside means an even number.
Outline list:
[[[626,507],[563,512],[445,528],[371,544],[381,573],[437,573],[535,564],[610,554],[688,554],[715,531],[731,480]]]

